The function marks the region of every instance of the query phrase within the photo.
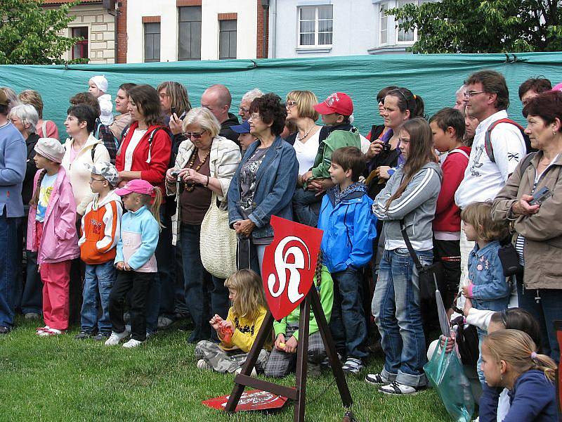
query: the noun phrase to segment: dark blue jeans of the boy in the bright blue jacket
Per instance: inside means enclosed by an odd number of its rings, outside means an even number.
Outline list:
[[[334,305],[329,328],[336,349],[346,357],[367,357],[362,345],[367,338],[367,324],[361,300],[361,274],[358,269],[348,267],[332,274],[334,279]]]

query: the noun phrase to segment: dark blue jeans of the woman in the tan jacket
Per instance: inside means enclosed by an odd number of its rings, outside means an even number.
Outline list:
[[[517,276],[518,306],[528,311],[539,322],[541,353],[550,356],[556,364],[560,360],[560,347],[556,340],[554,320],[562,319],[562,289],[540,288],[540,300],[535,301],[537,290],[523,287],[523,276]]]

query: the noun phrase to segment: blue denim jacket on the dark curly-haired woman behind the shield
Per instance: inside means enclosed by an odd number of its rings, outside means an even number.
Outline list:
[[[227,196],[230,227],[244,219],[240,210],[240,170],[259,146],[260,141],[249,146],[230,182]],[[293,219],[292,198],[298,175],[299,162],[296,160],[294,148],[277,136],[256,173],[256,191],[249,215],[249,219],[256,224],[256,228],[251,232],[252,238],[273,236],[273,227],[269,224],[272,215]]]

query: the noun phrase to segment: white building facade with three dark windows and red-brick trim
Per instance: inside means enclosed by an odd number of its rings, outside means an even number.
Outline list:
[[[256,0],[129,0],[127,63],[256,58]]]

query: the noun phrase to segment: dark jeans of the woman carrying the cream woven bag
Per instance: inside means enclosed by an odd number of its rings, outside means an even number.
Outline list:
[[[224,280],[211,276],[204,269],[201,263],[200,236],[200,225],[181,224],[185,305],[194,324],[188,338],[189,343],[197,343],[209,338],[218,340],[214,330],[211,336],[209,319],[214,314],[222,316],[223,319],[228,315],[228,288],[224,286]],[[209,281],[213,285],[212,288],[209,286]]]

